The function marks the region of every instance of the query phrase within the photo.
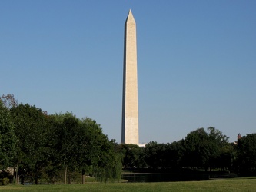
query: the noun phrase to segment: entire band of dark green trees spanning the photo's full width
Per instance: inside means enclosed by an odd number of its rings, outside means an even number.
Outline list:
[[[117,144],[103,134],[100,124],[74,114],[47,114],[29,104],[18,104],[12,94],[0,98],[0,180],[7,167],[13,180],[44,178],[50,184],[71,183],[72,173],[100,181],[120,180],[122,168],[151,171],[222,170],[256,173],[256,134],[236,144],[214,127],[191,131],[171,144],[151,141],[145,148]]]

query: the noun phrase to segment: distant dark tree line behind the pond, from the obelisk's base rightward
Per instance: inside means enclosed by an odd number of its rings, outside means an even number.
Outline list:
[[[119,144],[118,151],[123,154],[123,166],[131,170],[168,173],[221,171],[239,176],[256,175],[255,133],[238,137],[238,141],[230,143],[228,137],[214,127],[198,128],[171,144],[151,141],[145,148]]]

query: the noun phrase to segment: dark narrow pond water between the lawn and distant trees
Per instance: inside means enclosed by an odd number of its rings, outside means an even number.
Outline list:
[[[161,173],[125,173],[122,179],[127,182],[169,182],[188,180],[209,180],[208,174],[161,174]]]

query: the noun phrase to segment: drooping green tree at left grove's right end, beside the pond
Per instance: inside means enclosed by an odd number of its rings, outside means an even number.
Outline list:
[[[121,155],[115,151],[115,142],[109,141],[103,134],[100,124],[91,118],[82,119],[83,124],[88,127],[88,155],[92,174],[97,180],[119,180],[121,178]],[[88,164],[85,161],[84,164]]]

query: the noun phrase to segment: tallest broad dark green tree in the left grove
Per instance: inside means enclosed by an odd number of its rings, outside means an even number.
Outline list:
[[[17,147],[15,162],[19,164],[19,170],[35,180],[42,174],[42,169],[48,163],[51,148],[48,146],[49,124],[47,115],[35,106],[18,104],[12,107],[12,121],[15,124]]]

